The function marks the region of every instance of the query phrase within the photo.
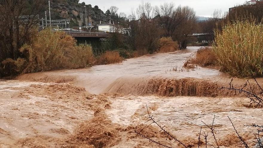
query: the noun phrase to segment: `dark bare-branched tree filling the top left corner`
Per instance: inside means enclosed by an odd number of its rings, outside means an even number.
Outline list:
[[[43,5],[44,0],[0,0],[0,62],[19,57],[19,48],[38,26]]]

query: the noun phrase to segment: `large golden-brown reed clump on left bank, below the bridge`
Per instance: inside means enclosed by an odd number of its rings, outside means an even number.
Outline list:
[[[32,44],[25,44],[20,51],[27,55],[25,73],[63,68],[84,68],[93,57],[90,45],[79,45],[64,32],[50,29],[40,31]]]

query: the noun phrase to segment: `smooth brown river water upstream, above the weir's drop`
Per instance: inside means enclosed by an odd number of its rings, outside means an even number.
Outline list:
[[[131,91],[131,86],[145,83],[146,80],[152,77],[209,79],[220,77],[221,73],[214,68],[196,68],[195,70],[182,68],[186,58],[198,48],[189,47],[186,50],[173,53],[147,55],[128,59],[120,64],[98,65],[78,70],[25,74],[17,79],[42,82],[55,81],[59,83],[72,81],[76,86],[85,87],[91,94],[101,94],[108,91],[114,93],[120,88],[123,89],[122,85],[129,85],[129,91]],[[175,71],[175,69],[177,70]],[[123,84],[123,82],[129,84]],[[134,91],[138,90],[135,89]],[[126,92],[123,90],[123,92],[118,93]],[[131,93],[129,92],[129,94]]]

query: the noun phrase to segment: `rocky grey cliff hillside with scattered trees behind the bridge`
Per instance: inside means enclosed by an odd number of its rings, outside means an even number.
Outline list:
[[[86,24],[84,6],[86,6],[88,24],[97,25],[100,21],[108,22],[109,18],[98,6],[92,7],[91,4],[79,3],[78,0],[51,0],[51,19],[69,19],[71,27],[84,26]],[[49,18],[48,6],[46,10]]]

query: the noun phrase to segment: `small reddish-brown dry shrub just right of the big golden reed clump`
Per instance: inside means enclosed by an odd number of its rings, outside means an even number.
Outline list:
[[[123,57],[120,57],[119,51],[106,51],[101,56],[97,57],[95,65],[120,63],[122,61]]]

